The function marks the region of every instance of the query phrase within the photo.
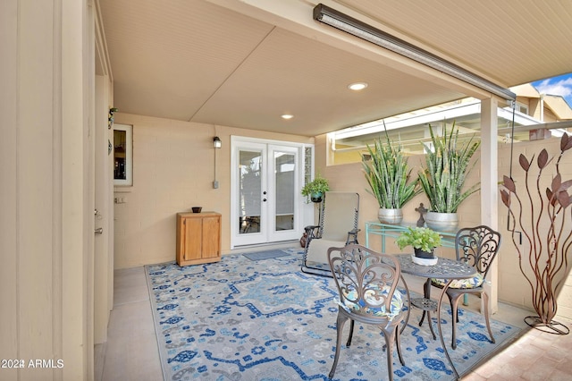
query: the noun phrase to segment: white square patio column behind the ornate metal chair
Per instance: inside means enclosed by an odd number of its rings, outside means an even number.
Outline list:
[[[499,102],[496,98],[481,100],[481,223],[494,230],[499,230],[498,107]],[[489,294],[493,314],[499,309],[497,263],[498,260],[495,260],[487,276],[490,284],[484,285],[485,291]]]

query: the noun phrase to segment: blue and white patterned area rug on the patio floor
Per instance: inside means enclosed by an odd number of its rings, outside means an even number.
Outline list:
[[[243,255],[179,267],[147,266],[165,380],[327,380],[335,351],[337,291],[332,279],[299,271],[301,253],[252,261]],[[392,354],[396,380],[450,380],[454,373],[429,328],[412,309],[401,334],[406,366]],[[436,320],[433,320],[433,325]],[[449,349],[460,375],[514,337],[519,329],[459,309],[458,346]],[[434,327],[434,326],[433,326]],[[436,328],[436,327],[435,327]],[[384,339],[374,326],[356,324],[333,379],[387,379]],[[442,332],[450,345],[450,309]]]

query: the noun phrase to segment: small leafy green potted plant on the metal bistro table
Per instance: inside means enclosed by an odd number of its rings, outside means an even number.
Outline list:
[[[434,249],[441,246],[441,235],[428,227],[408,227],[395,243],[400,250],[408,246],[413,247],[415,254],[411,258],[416,264],[434,265],[437,263]]]

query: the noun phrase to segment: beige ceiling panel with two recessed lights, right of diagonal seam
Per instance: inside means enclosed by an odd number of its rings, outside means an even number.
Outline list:
[[[356,81],[366,81],[368,87],[349,90],[348,85]],[[411,89],[416,89],[415,98],[410,97]],[[240,93],[244,97],[236,97]],[[318,134],[374,120],[382,107],[387,113],[401,114],[450,97],[450,90],[431,82],[276,29],[193,120],[302,135],[311,126],[310,133]],[[281,114],[295,116],[284,121]]]

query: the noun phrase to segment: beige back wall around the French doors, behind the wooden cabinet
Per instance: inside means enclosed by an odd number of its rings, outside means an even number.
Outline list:
[[[231,135],[312,143],[295,135],[115,114],[133,125],[133,186],[115,187],[114,267],[138,267],[175,259],[175,216],[191,207],[222,214],[222,251],[231,247]],[[216,151],[213,189],[214,136]],[[301,233],[300,233],[301,235]]]

